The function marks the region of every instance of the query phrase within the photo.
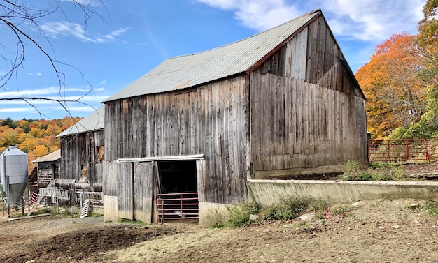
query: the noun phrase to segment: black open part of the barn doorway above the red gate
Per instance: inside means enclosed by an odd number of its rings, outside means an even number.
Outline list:
[[[197,193],[195,160],[158,162],[161,193]]]

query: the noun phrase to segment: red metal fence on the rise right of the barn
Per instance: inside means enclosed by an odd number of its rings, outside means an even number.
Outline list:
[[[373,162],[435,162],[438,140],[368,140],[368,160]]]

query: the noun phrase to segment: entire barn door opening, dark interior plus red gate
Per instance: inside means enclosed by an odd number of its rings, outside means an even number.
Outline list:
[[[155,196],[157,222],[199,218],[196,160],[157,162],[160,193]]]

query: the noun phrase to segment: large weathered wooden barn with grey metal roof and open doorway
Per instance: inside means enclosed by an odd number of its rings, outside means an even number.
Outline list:
[[[104,101],[104,216],[150,222],[197,192],[199,223],[247,179],[367,165],[365,96],[320,10],[167,59]]]

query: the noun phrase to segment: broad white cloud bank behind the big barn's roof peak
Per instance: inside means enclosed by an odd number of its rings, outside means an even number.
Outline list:
[[[234,13],[243,26],[262,31],[321,8],[338,36],[384,40],[392,33],[416,33],[423,0],[195,0]],[[304,10],[304,8],[309,8]]]

